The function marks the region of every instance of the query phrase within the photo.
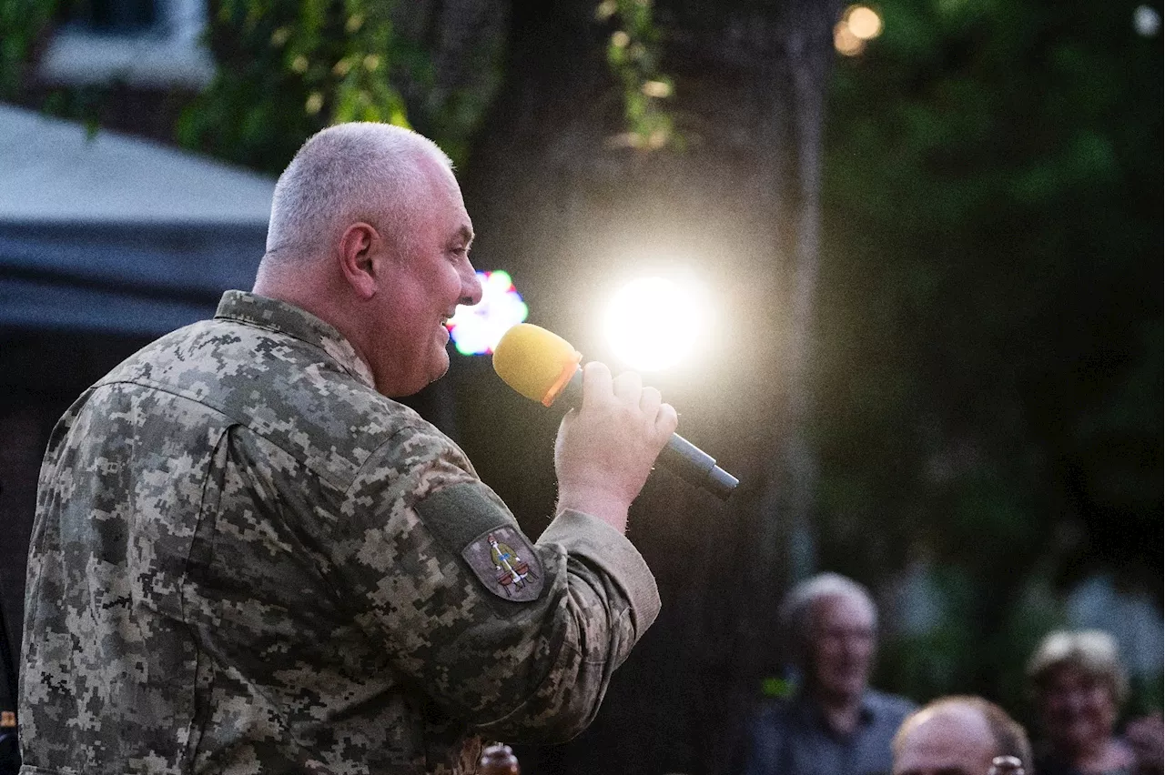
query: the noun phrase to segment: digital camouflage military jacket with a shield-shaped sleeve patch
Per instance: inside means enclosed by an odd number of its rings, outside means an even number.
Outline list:
[[[584,728],[658,605],[617,531],[531,545],[334,328],[231,291],[54,431],[21,772],[472,773]]]

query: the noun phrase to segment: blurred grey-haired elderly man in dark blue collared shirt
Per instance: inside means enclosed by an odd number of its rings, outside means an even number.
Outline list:
[[[913,709],[869,687],[877,611],[861,584],[821,574],[781,609],[802,675],[791,698],[749,721],[735,769],[742,775],[868,775],[890,769],[890,740]]]

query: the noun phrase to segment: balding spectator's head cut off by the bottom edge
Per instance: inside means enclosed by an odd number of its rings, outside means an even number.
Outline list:
[[[894,738],[894,775],[988,775],[1000,756],[1032,775],[1023,727],[982,697],[944,697],[906,718]]]

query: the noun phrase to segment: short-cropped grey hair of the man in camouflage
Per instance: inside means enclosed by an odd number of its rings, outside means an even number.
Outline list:
[[[415,200],[428,193],[424,157],[452,169],[436,143],[402,127],[353,122],[316,133],[275,184],[263,261],[316,255],[355,221],[375,223],[387,239],[408,244]]]

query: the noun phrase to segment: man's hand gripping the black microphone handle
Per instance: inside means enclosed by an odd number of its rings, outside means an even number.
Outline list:
[[[623,532],[627,510],[676,431],[676,410],[628,371],[582,367],[582,406],[563,418],[555,443],[558,509],[586,512]]]

